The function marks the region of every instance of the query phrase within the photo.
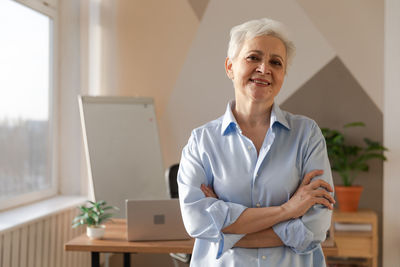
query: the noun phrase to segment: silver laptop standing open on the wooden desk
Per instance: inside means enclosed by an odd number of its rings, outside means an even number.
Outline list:
[[[178,199],[126,200],[128,241],[189,239]]]

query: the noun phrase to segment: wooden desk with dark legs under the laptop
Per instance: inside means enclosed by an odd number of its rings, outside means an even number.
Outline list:
[[[82,234],[64,246],[66,251],[88,251],[92,253],[92,267],[100,266],[100,252],[124,253],[124,266],[130,267],[130,253],[187,253],[191,254],[194,239],[177,241],[126,241],[126,221],[113,219],[108,223],[106,233],[101,240],[90,240]],[[325,256],[337,256],[336,247],[323,247]]]

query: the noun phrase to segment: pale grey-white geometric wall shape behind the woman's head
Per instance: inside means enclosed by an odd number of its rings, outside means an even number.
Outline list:
[[[160,118],[170,136],[164,147],[176,151],[171,157],[180,158],[179,151],[193,128],[224,112],[233,98],[232,83],[224,70],[229,31],[234,25],[261,17],[285,23],[298,51],[278,101],[288,98],[335,57],[332,47],[294,0],[210,0]]]

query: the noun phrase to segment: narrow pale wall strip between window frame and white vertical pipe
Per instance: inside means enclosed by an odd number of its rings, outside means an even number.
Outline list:
[[[77,95],[80,93],[79,0],[60,0],[59,7],[59,191],[81,193],[81,131]]]

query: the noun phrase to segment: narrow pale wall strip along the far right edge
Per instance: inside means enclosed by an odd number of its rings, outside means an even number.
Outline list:
[[[400,266],[400,1],[385,1],[383,265]]]

